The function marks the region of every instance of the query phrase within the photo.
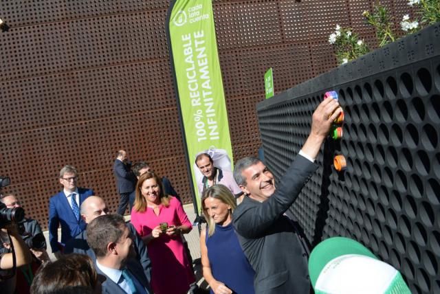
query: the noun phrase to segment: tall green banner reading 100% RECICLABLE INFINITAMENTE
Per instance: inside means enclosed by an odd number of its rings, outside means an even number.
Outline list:
[[[167,34],[188,172],[195,191],[195,210],[199,212],[201,195],[193,170],[195,157],[203,150],[217,148],[225,150],[232,161],[211,0],[171,1]]]

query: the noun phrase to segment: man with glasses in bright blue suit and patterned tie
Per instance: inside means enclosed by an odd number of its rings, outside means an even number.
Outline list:
[[[78,188],[78,172],[73,166],[65,166],[60,171],[63,190],[49,200],[49,242],[56,258],[61,256],[65,243],[85,229],[80,218],[80,205],[94,194],[93,190]],[[58,243],[58,227],[61,225],[61,243]]]

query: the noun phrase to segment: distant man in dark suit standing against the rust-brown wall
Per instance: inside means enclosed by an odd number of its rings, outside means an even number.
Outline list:
[[[123,216],[125,214],[126,205],[129,204],[129,195],[135,190],[136,185],[136,179],[133,172],[131,172],[131,163],[124,150],[118,151],[115,164],[113,165],[113,172],[116,177],[116,187],[120,194],[118,214]]]

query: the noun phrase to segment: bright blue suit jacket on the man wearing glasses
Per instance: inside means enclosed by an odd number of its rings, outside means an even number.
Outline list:
[[[93,190],[78,188],[80,206],[84,199],[94,195]],[[61,225],[61,243],[80,234],[85,229],[85,222],[81,218],[76,220],[72,207],[63,191],[58,192],[49,200],[49,242],[52,252],[58,251],[58,227]]]

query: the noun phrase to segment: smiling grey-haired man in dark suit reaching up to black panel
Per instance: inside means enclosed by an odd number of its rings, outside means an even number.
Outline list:
[[[256,293],[310,292],[308,248],[289,208],[318,168],[314,160],[340,111],[337,100],[326,99],[318,105],[310,135],[278,189],[259,159],[245,157],[235,165],[234,179],[245,197],[234,210],[233,223],[256,273]]]

